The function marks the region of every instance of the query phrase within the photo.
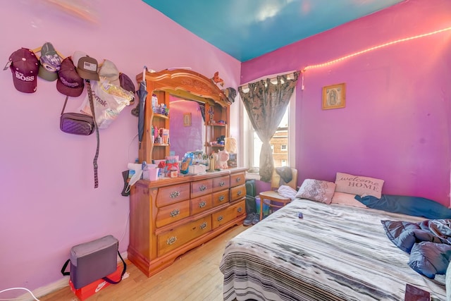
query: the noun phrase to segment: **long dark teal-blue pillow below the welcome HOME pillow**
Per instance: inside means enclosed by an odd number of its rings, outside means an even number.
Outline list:
[[[423,216],[426,219],[451,219],[451,209],[432,199],[409,197],[406,195],[382,195],[380,199],[371,195],[355,196],[366,207],[411,216]]]

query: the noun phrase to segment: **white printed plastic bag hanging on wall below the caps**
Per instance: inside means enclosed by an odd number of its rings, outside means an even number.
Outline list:
[[[134,97],[132,92],[113,85],[109,80],[91,80],[91,88],[99,128],[108,128]],[[92,115],[87,95],[80,107],[80,113]]]

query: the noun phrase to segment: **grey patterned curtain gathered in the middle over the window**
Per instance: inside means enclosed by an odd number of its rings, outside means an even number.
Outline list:
[[[293,77],[288,79],[290,75]],[[254,126],[263,145],[260,151],[260,180],[271,181],[274,161],[269,141],[273,137],[283,118],[290,97],[296,87],[299,71],[276,78],[266,78],[258,82],[249,83],[249,90],[238,87],[238,92],[245,105],[247,115]],[[276,82],[273,82],[276,80]]]

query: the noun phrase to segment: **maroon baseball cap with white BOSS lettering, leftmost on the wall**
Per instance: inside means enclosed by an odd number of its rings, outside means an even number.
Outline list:
[[[13,73],[14,87],[20,92],[36,92],[39,61],[35,53],[22,47],[9,56],[8,64]]]

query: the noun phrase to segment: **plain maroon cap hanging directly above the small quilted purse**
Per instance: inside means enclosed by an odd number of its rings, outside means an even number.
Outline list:
[[[68,56],[61,62],[56,90],[70,97],[79,97],[83,92],[83,87],[85,87],[85,83],[75,70],[72,58]]]

